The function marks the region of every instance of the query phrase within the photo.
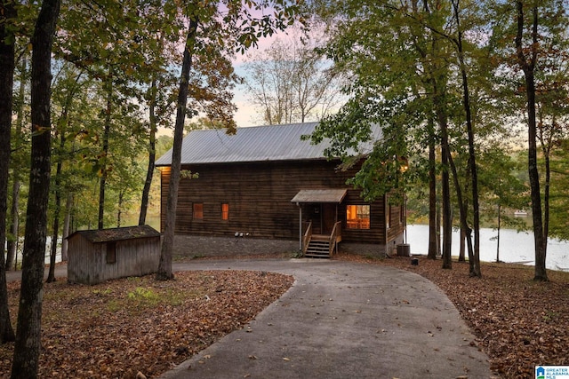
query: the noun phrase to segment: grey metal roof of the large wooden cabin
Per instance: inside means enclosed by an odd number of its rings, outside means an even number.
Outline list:
[[[301,136],[311,134],[318,122],[287,125],[255,126],[237,128],[236,134],[228,135],[224,129],[193,130],[184,138],[181,164],[297,161],[325,159],[328,141],[312,145]],[[375,138],[381,130],[375,128]],[[367,153],[371,144],[364,146]],[[156,166],[170,166],[172,149],[156,161]]]

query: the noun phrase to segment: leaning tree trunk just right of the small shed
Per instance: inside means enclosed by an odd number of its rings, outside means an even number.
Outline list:
[[[172,250],[174,245],[174,230],[176,227],[176,208],[178,203],[178,187],[180,185],[181,145],[188,106],[189,71],[192,67],[194,43],[196,43],[196,30],[198,20],[194,16],[189,20],[188,36],[184,48],[180,75],[180,91],[176,110],[176,123],[174,126],[174,145],[172,147],[172,166],[170,170],[170,184],[168,186],[168,200],[166,204],[166,217],[164,222],[164,237],[160,252],[160,263],[156,272],[156,280],[172,280]]]

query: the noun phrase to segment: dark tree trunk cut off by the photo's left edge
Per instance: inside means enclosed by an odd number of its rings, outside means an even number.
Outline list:
[[[16,9],[12,2],[0,3],[0,83],[2,83],[0,84],[0,343],[14,340],[10,310],[8,309],[4,242],[6,241],[8,211],[12,89],[15,69],[14,36],[10,31],[10,24],[16,16]]]

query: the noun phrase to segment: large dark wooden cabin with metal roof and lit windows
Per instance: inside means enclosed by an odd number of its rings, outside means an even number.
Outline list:
[[[325,157],[326,142],[312,145],[316,122],[194,130],[183,141],[176,234],[247,236],[298,241],[307,256],[329,256],[360,244],[377,255],[403,241],[405,209],[387,197],[367,202],[346,184],[359,166],[339,170]],[[381,138],[381,130],[374,130]],[[362,146],[371,151],[371,144]],[[363,155],[365,159],[365,154]],[[161,170],[162,228],[172,151],[156,161]],[[361,164],[361,162],[360,162]]]

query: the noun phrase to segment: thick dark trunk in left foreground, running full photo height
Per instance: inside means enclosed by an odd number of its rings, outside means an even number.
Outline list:
[[[32,36],[32,146],[12,379],[36,378],[41,349],[45,234],[51,170],[52,43],[60,0],[44,0]]]

